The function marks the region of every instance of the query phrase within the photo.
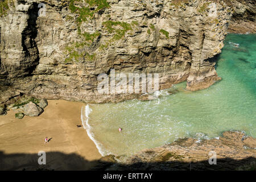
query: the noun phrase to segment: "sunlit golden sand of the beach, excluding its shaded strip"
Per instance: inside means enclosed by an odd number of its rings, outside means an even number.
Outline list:
[[[85,170],[94,167],[102,156],[84,128],[76,126],[81,125],[82,106],[82,102],[48,100],[39,117],[23,119],[16,119],[15,111],[9,110],[0,116],[0,152],[5,155],[38,154],[39,151],[76,154],[90,162],[83,167]],[[52,138],[48,144],[44,144],[46,137]],[[68,169],[68,166],[58,169]]]

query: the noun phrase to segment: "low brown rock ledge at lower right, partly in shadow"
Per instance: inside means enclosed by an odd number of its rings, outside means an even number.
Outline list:
[[[240,132],[225,131],[219,139],[179,139],[139,152],[108,170],[255,170],[256,139]],[[215,153],[213,153],[215,152]],[[216,163],[212,159],[216,156]],[[105,156],[107,158],[107,156]],[[110,156],[110,158],[113,158]],[[211,164],[209,164],[209,159]],[[108,161],[105,159],[105,161]],[[215,164],[214,164],[214,163]],[[109,163],[114,163],[109,160]],[[101,168],[105,165],[102,164]],[[108,164],[110,165],[110,164]]]

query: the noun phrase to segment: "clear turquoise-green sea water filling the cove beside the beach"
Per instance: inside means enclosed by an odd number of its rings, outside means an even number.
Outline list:
[[[83,125],[101,154],[130,155],[184,137],[200,142],[227,130],[256,137],[256,35],[229,34],[224,43],[216,68],[222,80],[208,89],[189,92],[182,82],[168,89],[174,94],[162,90],[158,100],[82,108]]]

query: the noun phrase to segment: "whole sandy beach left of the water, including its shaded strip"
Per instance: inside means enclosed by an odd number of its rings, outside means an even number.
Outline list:
[[[39,117],[16,119],[13,110],[0,115],[0,168],[38,167],[39,151],[46,152],[47,164],[53,169],[95,166],[102,156],[84,128],[76,126],[81,125],[82,106],[80,102],[49,100]],[[46,137],[51,138],[48,144],[44,144]]]

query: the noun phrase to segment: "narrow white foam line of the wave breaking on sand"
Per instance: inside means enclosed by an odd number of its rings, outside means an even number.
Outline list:
[[[90,109],[89,105],[85,106],[85,110],[84,110],[84,115],[83,113],[83,109],[84,107],[82,107],[81,109],[81,121],[82,121],[82,126],[84,127],[84,129],[86,130],[89,138],[94,142],[94,144],[96,145],[98,152],[100,152],[100,154],[102,156],[105,155],[104,151],[102,150],[101,144],[94,138],[94,135],[92,133],[92,126],[89,125],[88,121],[89,121],[89,114],[92,112],[92,109]]]

